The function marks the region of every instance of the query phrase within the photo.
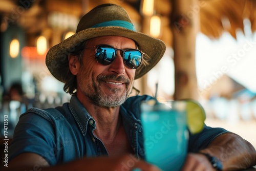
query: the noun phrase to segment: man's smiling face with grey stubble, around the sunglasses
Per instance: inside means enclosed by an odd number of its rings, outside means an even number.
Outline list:
[[[97,45],[110,45],[117,49],[136,49],[135,42],[121,36],[102,36],[87,41],[83,52],[82,65],[77,74],[77,95],[92,103],[114,107],[121,105],[132,91],[135,69],[127,68],[123,63],[122,51],[117,51],[114,61],[103,66],[95,59]]]

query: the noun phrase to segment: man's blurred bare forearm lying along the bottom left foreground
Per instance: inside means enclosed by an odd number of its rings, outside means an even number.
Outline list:
[[[31,159],[34,157],[35,159]],[[138,160],[132,154],[126,154],[117,157],[91,157],[80,158],[71,162],[57,164],[55,166],[45,165],[45,161],[38,163],[37,154],[25,153],[13,159],[8,167],[3,171],[24,171],[24,170],[40,170],[40,171],[56,171],[56,170],[133,170],[140,168],[147,171],[160,171],[158,167],[143,160]],[[20,159],[20,160],[19,160]],[[29,161],[28,161],[29,159]],[[133,163],[133,164],[131,164]],[[1,168],[0,168],[1,169]]]

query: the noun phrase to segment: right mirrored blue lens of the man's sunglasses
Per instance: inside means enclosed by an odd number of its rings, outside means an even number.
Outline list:
[[[142,54],[136,49],[128,49],[123,53],[123,60],[127,67],[135,69],[140,66]]]

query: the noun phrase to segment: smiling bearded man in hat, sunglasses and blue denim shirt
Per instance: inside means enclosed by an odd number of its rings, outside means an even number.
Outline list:
[[[101,60],[99,50],[108,51],[108,61]],[[136,32],[117,5],[100,5],[84,15],[76,34],[52,47],[46,57],[50,72],[73,95],[70,103],[30,109],[20,117],[8,168],[159,170],[143,160],[139,108],[152,97],[128,96],[134,79],[151,70],[164,51],[164,42]],[[128,66],[124,53],[134,54],[140,63]],[[256,164],[253,146],[224,129],[205,126],[190,136],[188,152],[183,170],[235,170]],[[220,161],[211,163],[207,157]]]

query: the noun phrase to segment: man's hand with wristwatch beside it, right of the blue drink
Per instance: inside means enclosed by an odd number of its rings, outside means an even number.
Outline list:
[[[208,159],[202,154],[189,153],[183,165],[182,171],[214,171]]]

